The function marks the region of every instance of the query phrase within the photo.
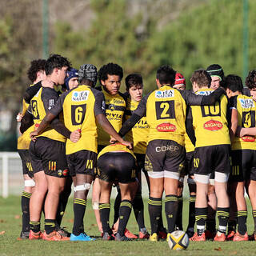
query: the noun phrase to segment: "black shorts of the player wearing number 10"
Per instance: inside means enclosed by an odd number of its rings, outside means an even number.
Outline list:
[[[230,174],[230,145],[200,146],[194,149],[194,174]]]

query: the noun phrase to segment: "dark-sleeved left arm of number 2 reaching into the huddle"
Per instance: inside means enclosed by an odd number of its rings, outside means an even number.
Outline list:
[[[130,129],[132,129],[135,124],[140,120],[142,117],[146,116],[146,101],[149,97],[149,94],[142,98],[142,101],[139,102],[138,107],[134,110],[134,113],[130,116],[126,122],[123,123],[122,128],[119,130],[119,133],[122,137],[125,136]]]

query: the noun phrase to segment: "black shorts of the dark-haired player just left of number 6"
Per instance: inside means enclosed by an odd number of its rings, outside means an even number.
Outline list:
[[[46,175],[65,178],[69,175],[66,162],[66,144],[46,137],[30,142],[33,173],[44,170]]]

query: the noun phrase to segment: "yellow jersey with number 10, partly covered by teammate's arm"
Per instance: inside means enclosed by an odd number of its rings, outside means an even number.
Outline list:
[[[211,94],[214,90],[201,89],[198,95]],[[228,128],[228,99],[226,95],[213,106],[191,106],[196,147],[230,144]]]

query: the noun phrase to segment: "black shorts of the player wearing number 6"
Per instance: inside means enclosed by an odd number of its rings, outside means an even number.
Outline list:
[[[80,150],[73,154],[66,155],[67,163],[70,169],[70,175],[88,174],[95,176],[97,154],[90,150]]]

